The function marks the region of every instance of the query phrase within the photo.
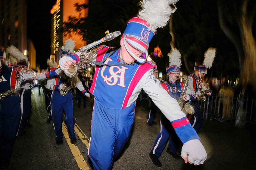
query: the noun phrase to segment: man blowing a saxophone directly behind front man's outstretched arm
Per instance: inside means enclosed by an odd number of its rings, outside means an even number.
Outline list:
[[[171,52],[168,54],[170,65],[167,67],[167,74],[169,76],[169,80],[167,82],[161,82],[160,85],[163,86],[164,90],[167,91],[167,93],[177,101],[180,98],[180,94],[183,87],[183,82],[178,82],[178,76],[180,76],[180,52],[177,49],[172,49]],[[186,88],[186,87],[185,87]],[[183,101],[193,99],[192,91],[187,90],[186,94],[183,96]],[[176,153],[178,150],[177,144],[179,144],[179,138],[176,135],[175,131],[173,130],[173,127],[170,124],[170,121],[164,116],[164,114],[161,114],[160,118],[160,133],[158,134],[155,143],[153,145],[153,148],[151,152],[149,153],[149,156],[152,160],[152,162],[156,165],[161,167],[162,164],[160,160],[158,159],[169,139],[169,145],[167,148],[167,153],[171,154],[175,159],[180,159],[180,156]]]

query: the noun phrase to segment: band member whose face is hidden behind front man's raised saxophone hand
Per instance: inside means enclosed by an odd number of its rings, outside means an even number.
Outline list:
[[[61,55],[67,55],[67,53],[72,53],[74,51],[75,42],[71,39],[65,41],[64,51]],[[73,115],[73,96],[71,88],[73,88],[73,84],[83,93],[83,95],[89,97],[89,93],[83,87],[83,84],[75,77],[67,77],[63,72],[55,78],[54,81],[51,81],[50,88],[53,89],[52,97],[51,97],[51,113],[52,113],[52,122],[53,127],[56,133],[55,139],[57,145],[63,144],[63,133],[62,133],[62,115],[63,111],[65,112],[65,122],[67,124],[68,136],[70,138],[70,142],[72,144],[76,143],[76,135],[74,132],[74,124],[75,118]],[[67,94],[62,96],[60,94],[60,90],[64,89],[66,86]]]

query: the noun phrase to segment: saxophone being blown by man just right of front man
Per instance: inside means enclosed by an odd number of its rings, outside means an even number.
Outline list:
[[[180,108],[182,109],[182,111],[186,114],[186,115],[193,115],[195,113],[195,109],[194,109],[194,103],[193,102],[188,102],[184,104],[183,101],[183,96],[186,95],[186,91],[187,91],[187,87],[188,87],[188,81],[189,78],[188,76],[185,74],[183,76],[180,76],[178,78],[186,78],[186,81],[184,82],[181,94],[180,94],[180,98],[178,100],[178,103],[180,105]]]

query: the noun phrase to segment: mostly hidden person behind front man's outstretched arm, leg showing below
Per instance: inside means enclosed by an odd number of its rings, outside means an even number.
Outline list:
[[[154,67],[153,74],[154,74],[155,78],[158,79],[157,67]],[[151,98],[149,98],[149,103],[150,103],[150,110],[148,112],[147,124],[148,124],[148,126],[154,126],[154,124],[156,124],[155,117],[156,117],[157,106],[155,105],[155,103],[152,101]]]

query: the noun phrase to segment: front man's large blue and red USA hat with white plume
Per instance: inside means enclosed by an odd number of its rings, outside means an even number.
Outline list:
[[[147,53],[147,49],[152,37],[155,35],[157,28],[164,27],[170,19],[173,10],[170,4],[175,4],[178,0],[143,0],[141,3],[142,10],[139,11],[139,16],[128,21],[122,38],[124,45],[130,55],[138,62],[145,62],[145,57],[137,57],[132,54],[127,47],[129,43],[134,48],[142,53]]]

